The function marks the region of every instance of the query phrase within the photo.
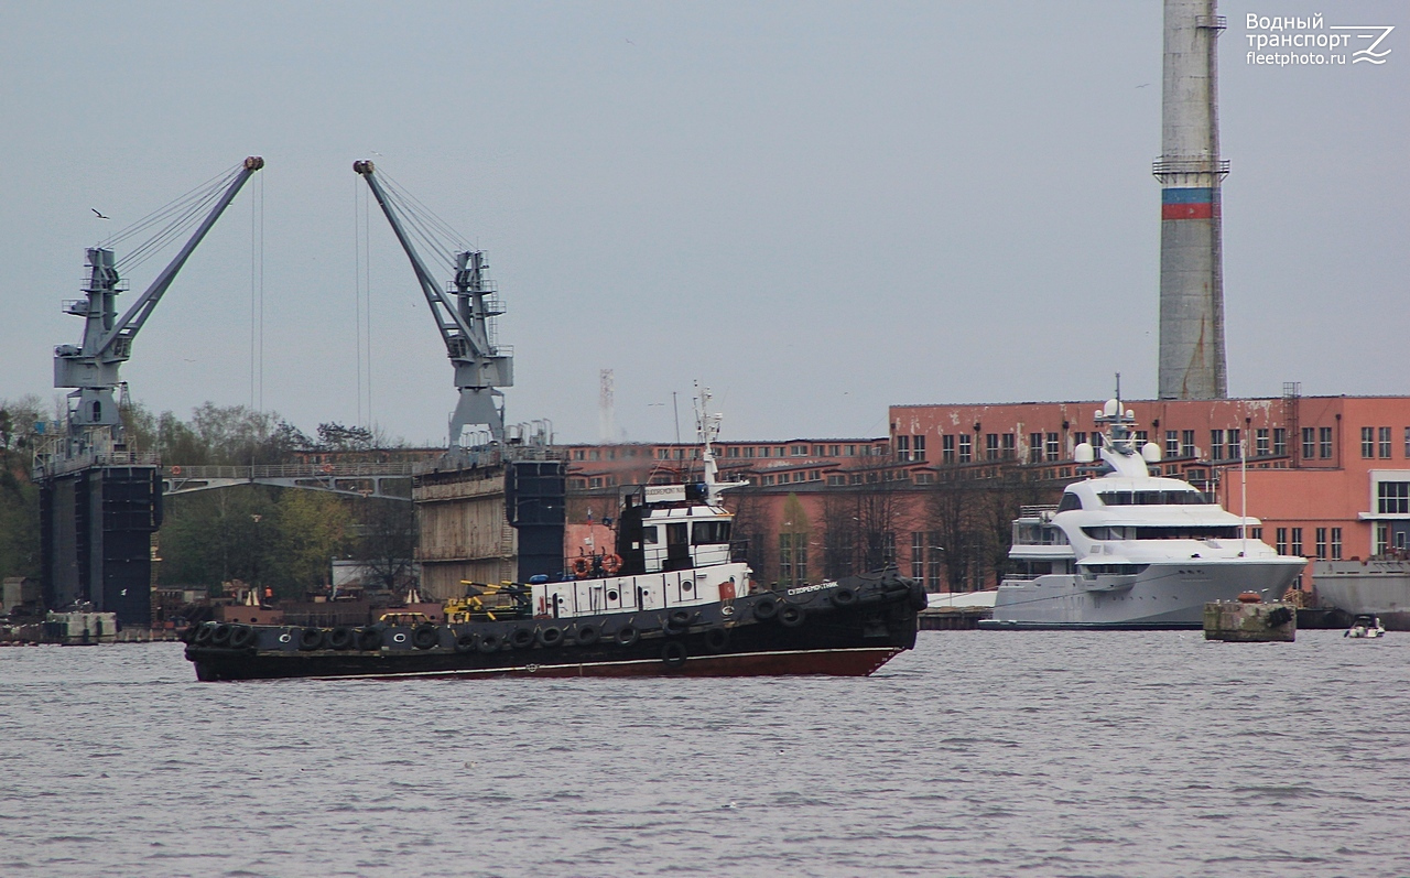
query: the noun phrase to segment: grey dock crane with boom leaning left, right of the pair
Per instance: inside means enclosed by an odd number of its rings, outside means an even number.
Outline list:
[[[515,359],[509,348],[495,344],[491,319],[503,313],[494,287],[485,276],[484,251],[462,249],[454,254],[455,276],[451,289],[436,282],[426,262],[422,261],[407,234],[406,221],[417,217],[406,203],[396,197],[374,173],[372,162],[354,162],[352,171],[360,173],[372,190],[372,196],[386,214],[392,233],[412,261],[412,271],[422,285],[426,303],[430,304],[436,327],[446,341],[446,354],[455,366],[455,388],[460,402],[450,416],[450,447],[461,444],[467,427],[484,426],[491,440],[505,441],[503,393],[499,388],[515,383]]]

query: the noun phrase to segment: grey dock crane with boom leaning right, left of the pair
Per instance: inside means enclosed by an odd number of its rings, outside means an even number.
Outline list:
[[[66,457],[85,452],[96,428],[106,427],[113,444],[118,447],[123,444],[123,419],[113,399],[113,392],[120,383],[118,368],[131,358],[133,340],[151,317],[172,280],[176,279],[176,272],[182,269],[196,245],[230,206],[245,180],[261,168],[264,168],[264,159],[259,156],[252,155],[244,161],[186,245],[157,275],[152,285],[137,297],[137,302],[127,309],[121,319],[117,319],[117,295],[124,287],[117,273],[114,254],[106,247],[89,248],[89,278],[83,290],[87,297],[70,302],[66,307],[68,313],[83,317],[83,341],[78,345],[63,344],[54,350],[54,386],[75,388],[73,393],[69,393]],[[199,207],[200,200],[195,206],[179,204],[182,214],[172,225],[179,225]],[[171,227],[162,230],[154,241],[159,241],[169,231]]]

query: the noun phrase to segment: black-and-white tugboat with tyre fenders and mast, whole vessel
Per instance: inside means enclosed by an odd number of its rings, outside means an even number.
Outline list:
[[[924,588],[895,568],[756,591],[732,557],[704,414],[704,481],[630,490],[616,551],[574,561],[557,582],[484,586],[447,623],[391,616],[364,627],[204,623],[186,658],[202,681],[416,676],[864,676],[915,645]],[[574,578],[574,574],[581,578]]]

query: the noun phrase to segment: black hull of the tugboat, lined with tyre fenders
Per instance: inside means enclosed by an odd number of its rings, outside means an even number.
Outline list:
[[[186,658],[202,681],[864,676],[915,645],[924,606],[924,589],[891,569],[722,603],[574,619],[355,630],[207,623]]]

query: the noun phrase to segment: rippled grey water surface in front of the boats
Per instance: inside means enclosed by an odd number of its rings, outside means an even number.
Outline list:
[[[1410,634],[869,679],[197,684],[0,650],[0,875],[1410,875]]]

